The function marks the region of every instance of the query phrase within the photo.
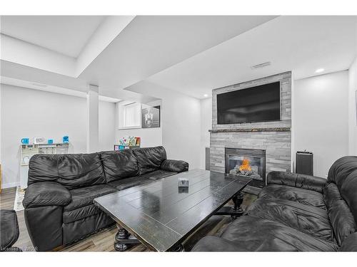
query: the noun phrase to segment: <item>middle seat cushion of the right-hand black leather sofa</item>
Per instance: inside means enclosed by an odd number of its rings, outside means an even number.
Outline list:
[[[246,214],[277,221],[319,239],[333,241],[333,229],[328,213],[316,206],[308,206],[286,199],[257,199]]]

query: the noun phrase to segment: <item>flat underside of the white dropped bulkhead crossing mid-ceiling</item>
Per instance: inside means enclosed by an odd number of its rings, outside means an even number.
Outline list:
[[[136,16],[79,78],[126,88],[276,16]]]

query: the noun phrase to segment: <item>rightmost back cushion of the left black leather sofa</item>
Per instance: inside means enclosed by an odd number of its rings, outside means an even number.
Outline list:
[[[133,152],[138,160],[140,175],[160,169],[161,163],[166,159],[164,147],[146,147]]]

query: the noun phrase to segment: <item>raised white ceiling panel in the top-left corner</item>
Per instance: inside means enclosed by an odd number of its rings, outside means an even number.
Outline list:
[[[105,16],[1,16],[1,33],[77,58]]]

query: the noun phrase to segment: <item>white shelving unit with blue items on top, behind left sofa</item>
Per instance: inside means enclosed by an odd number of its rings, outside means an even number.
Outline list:
[[[27,179],[29,177],[29,161],[31,157],[36,154],[68,154],[69,143],[20,145],[20,149],[20,187],[21,189],[26,189]]]

